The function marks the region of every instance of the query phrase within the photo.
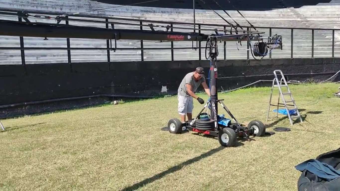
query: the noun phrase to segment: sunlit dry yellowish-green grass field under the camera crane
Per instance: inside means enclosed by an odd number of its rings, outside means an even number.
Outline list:
[[[294,166],[340,147],[338,87],[290,85],[304,118],[293,126],[283,115],[266,123],[270,88],[220,93],[242,123],[291,128],[229,148],[161,131],[179,118],[176,97],[2,120],[0,190],[297,190]]]

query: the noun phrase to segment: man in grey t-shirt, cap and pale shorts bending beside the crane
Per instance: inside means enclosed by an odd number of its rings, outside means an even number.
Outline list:
[[[197,67],[194,72],[190,72],[184,76],[180,86],[178,87],[178,112],[181,116],[181,122],[185,122],[185,115],[188,116],[188,120],[192,119],[192,98],[195,98],[198,102],[204,104],[204,100],[194,93],[200,84],[202,84],[205,92],[210,97],[209,87],[205,83],[204,70],[202,67]]]

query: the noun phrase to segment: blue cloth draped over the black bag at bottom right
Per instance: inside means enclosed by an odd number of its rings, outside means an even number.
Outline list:
[[[306,160],[296,165],[295,169],[301,172],[307,170],[320,178],[326,178],[330,180],[340,177],[339,170],[335,170],[329,164],[320,162],[319,160],[315,159]]]

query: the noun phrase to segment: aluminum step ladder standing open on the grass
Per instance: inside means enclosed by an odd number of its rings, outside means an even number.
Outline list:
[[[278,78],[277,78],[277,72],[279,72],[279,75],[281,75],[280,82],[278,81]],[[286,109],[287,116],[288,116],[288,119],[289,119],[291,125],[293,125],[292,119],[297,119],[297,118],[300,118],[300,122],[302,123],[302,118],[301,118],[301,115],[299,113],[299,109],[297,109],[297,106],[296,106],[295,101],[293,99],[292,93],[290,92],[288,84],[286,82],[285,76],[283,75],[281,70],[274,70],[274,75],[275,75],[275,78],[273,80],[272,89],[271,89],[271,92],[270,92],[267,121],[268,121],[269,118],[273,118],[273,117],[276,117],[276,119],[277,119],[278,118],[279,107],[280,106],[281,107],[284,106],[285,109]],[[284,84],[282,84],[282,82],[284,82]],[[273,105],[272,104],[273,89],[275,87],[278,87],[278,90],[279,90],[279,96],[278,96],[278,99],[277,99],[277,105]],[[287,87],[287,92],[283,92],[282,91],[282,87]],[[290,100],[285,100],[284,95],[290,95]],[[283,103],[280,103],[280,97],[281,97]],[[292,104],[287,104],[287,103],[292,103]],[[270,107],[271,106],[276,106],[277,107],[276,108],[276,110],[277,110],[276,116],[269,116],[269,112],[270,112]],[[297,115],[290,115],[290,113],[289,113],[290,110],[296,110]]]

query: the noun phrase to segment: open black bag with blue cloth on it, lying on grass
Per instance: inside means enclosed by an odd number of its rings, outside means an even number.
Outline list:
[[[307,161],[310,162],[308,167]],[[299,166],[300,169],[297,170],[300,171],[302,171],[301,167],[303,167],[302,169],[306,167],[297,181],[298,191],[340,191],[340,176],[338,176],[340,173],[340,148],[321,154],[316,160],[307,161],[303,162],[303,166],[300,164],[295,166],[296,169]]]

